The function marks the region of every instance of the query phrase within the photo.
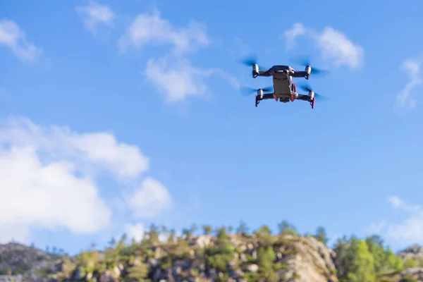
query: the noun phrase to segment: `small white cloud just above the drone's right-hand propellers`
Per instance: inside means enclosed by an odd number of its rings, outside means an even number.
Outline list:
[[[333,27],[324,27],[322,32],[305,28],[302,23],[295,23],[284,33],[287,48],[295,46],[295,39],[307,36],[314,40],[321,50],[323,59],[331,61],[333,66],[347,66],[351,69],[359,68],[364,63],[364,49],[348,39],[341,31]]]

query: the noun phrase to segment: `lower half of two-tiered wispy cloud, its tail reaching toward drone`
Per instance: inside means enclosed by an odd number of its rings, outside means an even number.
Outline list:
[[[202,96],[207,93],[207,78],[219,75],[235,89],[239,89],[238,80],[220,69],[202,69],[191,66],[188,59],[163,57],[149,59],[145,71],[147,80],[159,92],[164,94],[166,102],[180,102],[188,97]]]

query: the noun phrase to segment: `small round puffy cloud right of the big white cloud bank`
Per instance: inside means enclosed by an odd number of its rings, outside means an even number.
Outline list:
[[[172,204],[167,188],[153,178],[142,180],[141,187],[135,189],[128,202],[137,218],[153,218]]]

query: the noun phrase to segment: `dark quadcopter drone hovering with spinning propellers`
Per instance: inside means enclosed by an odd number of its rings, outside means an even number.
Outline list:
[[[247,59],[243,61],[247,66],[252,66],[252,78],[257,78],[258,76],[273,77],[273,87],[259,88],[257,90],[250,89],[253,92],[257,91],[255,97],[255,106],[257,107],[260,101],[265,99],[274,99],[276,102],[294,102],[296,99],[301,101],[307,101],[314,109],[315,99],[318,97],[325,98],[320,94],[315,93],[311,87],[300,86],[302,90],[308,92],[308,94],[299,94],[297,92],[297,87],[293,78],[305,78],[309,80],[309,76],[312,74],[324,73],[326,71],[321,71],[318,68],[312,68],[310,63],[302,63],[305,66],[305,71],[295,71],[294,68],[290,66],[272,66],[267,71],[259,69],[257,61],[255,59]],[[273,88],[273,92],[271,92]],[[269,93],[266,93],[269,92]]]

